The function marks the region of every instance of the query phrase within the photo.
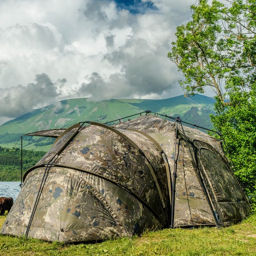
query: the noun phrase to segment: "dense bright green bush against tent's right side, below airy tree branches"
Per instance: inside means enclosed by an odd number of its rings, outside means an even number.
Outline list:
[[[256,199],[256,87],[249,92],[229,93],[232,106],[216,104],[211,116],[221,131],[225,149],[234,165],[234,173]]]

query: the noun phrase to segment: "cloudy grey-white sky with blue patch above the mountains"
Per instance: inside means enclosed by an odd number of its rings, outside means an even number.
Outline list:
[[[1,0],[0,124],[62,99],[183,94],[167,58],[195,0]]]

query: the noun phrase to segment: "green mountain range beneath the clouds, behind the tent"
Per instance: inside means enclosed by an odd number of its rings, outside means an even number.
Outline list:
[[[93,102],[90,99],[67,99],[26,113],[0,125],[0,145],[12,147],[20,135],[53,128],[65,128],[82,121],[109,122],[146,110],[169,116],[180,116],[183,121],[211,128],[209,114],[214,113],[215,99],[204,95],[169,99],[111,99]],[[25,148],[48,149],[52,139],[27,137]],[[38,149],[39,149],[38,148]]]

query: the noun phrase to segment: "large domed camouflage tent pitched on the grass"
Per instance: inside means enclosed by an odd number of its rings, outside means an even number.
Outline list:
[[[90,122],[57,136],[25,173],[2,234],[95,241],[145,228],[219,227],[250,210],[220,141],[179,120]]]

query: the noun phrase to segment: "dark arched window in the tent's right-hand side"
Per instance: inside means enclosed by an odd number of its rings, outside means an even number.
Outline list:
[[[212,151],[201,148],[201,163],[218,202],[244,201],[244,196],[232,172],[223,160]]]

